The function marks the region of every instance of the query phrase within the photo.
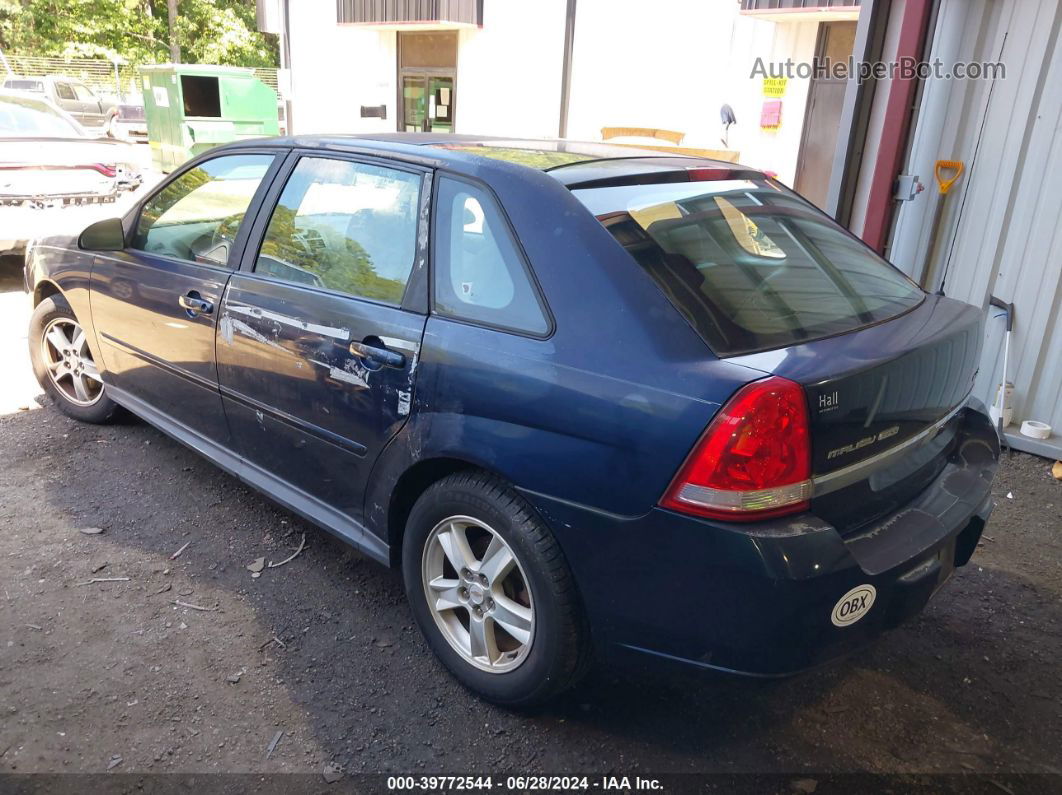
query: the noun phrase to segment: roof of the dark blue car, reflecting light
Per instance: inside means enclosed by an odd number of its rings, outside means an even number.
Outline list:
[[[389,154],[404,160],[432,167],[449,167],[458,171],[470,168],[491,171],[495,167],[508,170],[513,166],[531,168],[549,174],[568,188],[609,182],[655,182],[664,173],[696,168],[736,168],[761,175],[761,172],[753,169],[735,167],[734,163],[707,157],[563,138],[504,138],[439,133],[310,135],[273,138],[269,141],[239,141],[226,144],[224,149],[254,148],[263,143],[297,149]]]

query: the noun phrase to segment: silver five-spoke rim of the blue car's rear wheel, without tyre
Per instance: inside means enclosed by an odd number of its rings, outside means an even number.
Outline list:
[[[534,602],[519,560],[486,523],[451,516],[428,535],[424,593],[450,646],[489,673],[512,671],[534,639]]]

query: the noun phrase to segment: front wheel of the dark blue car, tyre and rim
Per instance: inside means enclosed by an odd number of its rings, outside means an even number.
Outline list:
[[[64,414],[83,422],[107,422],[118,412],[106,395],[88,336],[61,295],[45,298],[33,311],[30,359],[41,388]]]

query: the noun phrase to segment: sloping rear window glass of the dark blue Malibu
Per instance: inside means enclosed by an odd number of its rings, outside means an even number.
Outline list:
[[[573,193],[718,356],[852,331],[923,298],[900,271],[766,178]]]

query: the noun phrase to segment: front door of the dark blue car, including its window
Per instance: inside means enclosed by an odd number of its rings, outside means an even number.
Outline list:
[[[227,444],[217,308],[239,262],[244,219],[281,160],[263,150],[198,161],[142,204],[126,248],[95,258],[92,322],[104,380],[119,402],[178,433]]]

